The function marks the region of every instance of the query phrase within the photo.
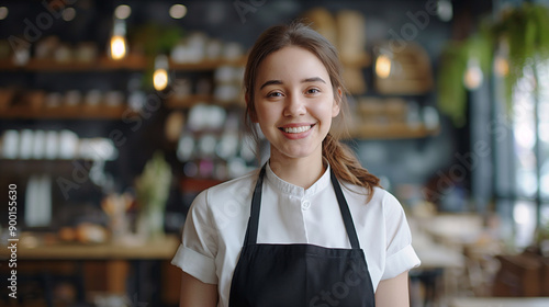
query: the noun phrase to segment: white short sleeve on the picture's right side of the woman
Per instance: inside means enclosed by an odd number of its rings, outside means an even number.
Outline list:
[[[421,264],[412,247],[412,232],[406,215],[399,201],[385,193],[383,200],[385,218],[386,259],[381,280],[389,280]]]

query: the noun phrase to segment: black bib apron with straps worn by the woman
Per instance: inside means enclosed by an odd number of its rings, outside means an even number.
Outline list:
[[[314,245],[257,243],[265,166],[259,172],[246,238],[236,264],[229,307],[360,307],[376,306],[365,253],[341,187],[332,171],[332,184],[351,249]],[[326,229],[332,231],[332,229]]]

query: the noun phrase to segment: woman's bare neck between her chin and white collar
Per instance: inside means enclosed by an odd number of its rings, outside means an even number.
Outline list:
[[[305,190],[311,187],[326,170],[322,156],[294,159],[271,156],[269,167],[283,181]]]

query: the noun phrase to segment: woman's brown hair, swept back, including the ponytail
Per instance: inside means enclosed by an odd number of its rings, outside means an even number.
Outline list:
[[[334,99],[338,101],[341,110],[347,104],[341,65],[336,48],[321,34],[303,23],[271,26],[256,41],[248,55],[244,72],[244,92],[248,98],[245,127],[256,141],[258,133],[257,127],[251,123],[250,114],[256,112],[254,93],[259,65],[268,55],[288,46],[301,47],[314,54],[326,67],[334,90]],[[338,89],[343,91],[341,96],[338,95]],[[366,187],[369,193],[368,201],[373,194],[373,187],[380,186],[379,179],[362,168],[354,152],[329,133],[322,143],[322,156],[328,161],[338,179]]]

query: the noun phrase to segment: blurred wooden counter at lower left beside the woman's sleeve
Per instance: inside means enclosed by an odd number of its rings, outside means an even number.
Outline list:
[[[146,243],[85,245],[63,242],[51,234],[24,232],[15,242],[18,276],[38,283],[44,297],[37,296],[40,304],[22,306],[54,306],[52,289],[55,281],[67,278],[76,288],[79,302],[90,299],[94,293],[107,293],[138,295],[139,299],[153,305],[160,304],[160,300],[176,305],[179,300],[181,271],[171,265],[170,260],[179,242],[178,236],[168,235]],[[11,257],[5,241],[0,242],[0,262]],[[10,273],[7,271],[8,265],[0,265],[0,275]],[[43,276],[48,278],[44,280]],[[150,285],[153,280],[154,286]],[[154,291],[161,297],[154,298]]]

